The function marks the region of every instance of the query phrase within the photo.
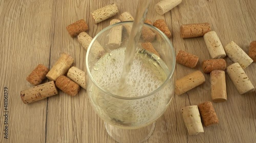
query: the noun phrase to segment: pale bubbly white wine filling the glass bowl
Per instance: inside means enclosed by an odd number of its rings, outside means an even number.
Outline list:
[[[160,59],[138,52],[122,93],[118,91],[123,68],[125,48],[106,53],[95,64],[91,74],[103,90],[120,97],[140,97],[150,94],[166,80],[169,71]],[[154,55],[155,56],[155,55]],[[160,64],[161,63],[161,64]],[[170,83],[146,98],[123,100],[104,95],[95,85],[89,88],[89,96],[104,121],[122,128],[139,128],[154,122],[167,107],[172,97]]]

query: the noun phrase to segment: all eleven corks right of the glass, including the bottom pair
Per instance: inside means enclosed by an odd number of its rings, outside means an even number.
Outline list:
[[[210,73],[211,99],[213,102],[227,100],[225,70],[240,94],[245,94],[254,89],[244,69],[256,60],[256,41],[250,43],[248,55],[233,41],[225,47],[215,31],[211,31],[209,23],[196,23],[181,25],[181,38],[204,37],[206,47],[211,59],[202,62],[202,71]],[[228,56],[234,63],[227,67],[223,59]],[[192,53],[180,50],[176,56],[176,62],[195,68],[199,57]],[[175,93],[181,95],[205,82],[203,72],[197,70],[176,81]],[[182,108],[182,116],[189,135],[204,132],[204,126],[219,123],[219,119],[211,102]]]

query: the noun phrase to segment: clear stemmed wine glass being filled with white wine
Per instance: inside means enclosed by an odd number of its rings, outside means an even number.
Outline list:
[[[143,25],[131,70],[125,83],[120,83],[132,24],[125,21],[104,28],[86,54],[90,103],[109,135],[122,143],[150,137],[175,89],[175,50],[170,40],[149,24]]]

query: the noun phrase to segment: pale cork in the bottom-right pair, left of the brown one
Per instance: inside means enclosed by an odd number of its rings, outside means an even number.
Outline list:
[[[188,135],[197,135],[204,132],[197,105],[183,107],[182,117],[186,125]]]

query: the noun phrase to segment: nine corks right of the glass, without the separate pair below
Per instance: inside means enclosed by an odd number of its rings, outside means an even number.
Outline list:
[[[181,38],[204,37],[206,47],[211,59],[202,62],[202,71],[210,73],[211,98],[214,102],[227,100],[225,70],[240,94],[254,89],[244,69],[256,58],[256,41],[250,43],[248,55],[236,43],[231,41],[225,47],[215,31],[211,31],[209,23],[196,23],[181,25]],[[228,56],[234,63],[227,67],[223,59]],[[176,62],[189,68],[195,68],[199,57],[192,53],[180,50]],[[239,72],[237,72],[239,71]],[[175,93],[181,95],[198,85],[204,83],[205,77],[201,71],[195,71],[176,81]]]

